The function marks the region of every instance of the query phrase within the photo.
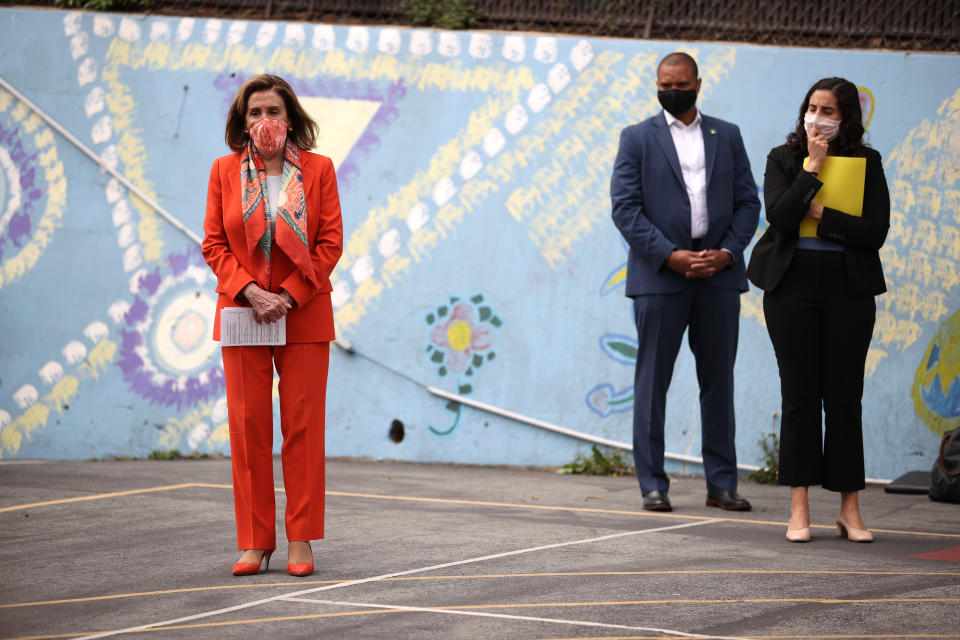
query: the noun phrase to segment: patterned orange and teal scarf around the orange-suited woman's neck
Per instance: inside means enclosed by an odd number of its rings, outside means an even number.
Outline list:
[[[240,161],[240,194],[253,277],[261,288],[270,290],[270,257],[273,247],[277,246],[311,284],[319,286],[307,242],[307,200],[303,194],[300,149],[289,140],[283,153],[280,197],[273,212],[277,220],[276,238],[268,223],[266,182],[263,157],[253,142],[248,142]]]

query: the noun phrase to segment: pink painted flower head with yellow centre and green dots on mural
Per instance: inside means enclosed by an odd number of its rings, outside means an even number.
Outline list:
[[[441,305],[427,315],[430,330],[431,361],[440,365],[437,373],[473,375],[484,360],[494,357],[494,328],[502,323],[489,306],[482,305],[483,296],[478,294],[470,301],[453,297],[450,305]],[[481,305],[475,307],[474,305]]]

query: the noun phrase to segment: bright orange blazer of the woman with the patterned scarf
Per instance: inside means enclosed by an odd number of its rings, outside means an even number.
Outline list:
[[[307,237],[310,258],[319,282],[314,287],[282,250],[273,248],[270,291],[285,289],[296,301],[287,313],[287,342],[329,342],[335,338],[330,274],[343,253],[343,221],[333,162],[326,156],[300,152],[303,193],[307,199]],[[213,339],[220,339],[220,310],[249,307],[240,296],[250,282],[250,252],[243,230],[240,200],[240,154],[217,158],[207,186],[207,215],[203,221],[203,257],[217,276],[217,316]]]

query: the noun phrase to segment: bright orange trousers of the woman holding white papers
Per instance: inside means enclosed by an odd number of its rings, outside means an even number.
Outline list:
[[[273,367],[280,376],[287,540],[323,537],[324,406],[330,343],[224,347],[239,549],[274,549]]]

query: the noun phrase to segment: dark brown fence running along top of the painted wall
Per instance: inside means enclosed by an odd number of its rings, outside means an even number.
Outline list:
[[[117,0],[128,6],[143,1]],[[443,0],[407,2],[444,4]],[[480,29],[834,49],[960,51],[960,0],[456,0],[455,4],[472,5],[476,10],[472,26]],[[411,15],[400,0],[153,0],[150,10],[347,24],[410,24]]]

